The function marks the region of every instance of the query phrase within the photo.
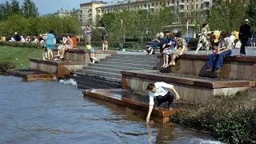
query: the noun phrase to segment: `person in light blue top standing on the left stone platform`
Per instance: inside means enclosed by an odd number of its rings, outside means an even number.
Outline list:
[[[54,30],[50,30],[50,34],[47,34],[46,38],[46,49],[48,54],[48,60],[54,59],[54,43],[56,43],[56,39],[54,36]]]

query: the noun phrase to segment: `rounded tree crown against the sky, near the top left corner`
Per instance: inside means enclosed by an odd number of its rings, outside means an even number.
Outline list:
[[[38,16],[38,7],[35,6],[34,2],[31,0],[24,0],[22,5],[22,14],[26,17],[36,17]]]

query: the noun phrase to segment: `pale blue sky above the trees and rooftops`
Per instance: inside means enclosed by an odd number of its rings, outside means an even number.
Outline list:
[[[10,0],[7,0],[10,2]],[[80,3],[91,2],[91,0],[32,0],[38,7],[38,12],[42,14],[51,14],[57,12],[57,10],[72,10],[73,8],[78,9]],[[6,0],[0,0],[0,3],[6,2]],[[20,5],[24,0],[18,0]],[[104,2],[110,2],[105,0]]]

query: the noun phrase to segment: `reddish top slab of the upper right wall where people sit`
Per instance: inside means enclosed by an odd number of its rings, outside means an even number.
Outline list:
[[[157,56],[162,57],[162,54],[158,54]],[[209,57],[210,55],[205,55],[205,54],[183,54],[179,58],[209,60]],[[226,56],[224,58],[224,61],[256,62],[256,57],[254,56],[241,57],[241,56],[233,55],[233,56]]]

